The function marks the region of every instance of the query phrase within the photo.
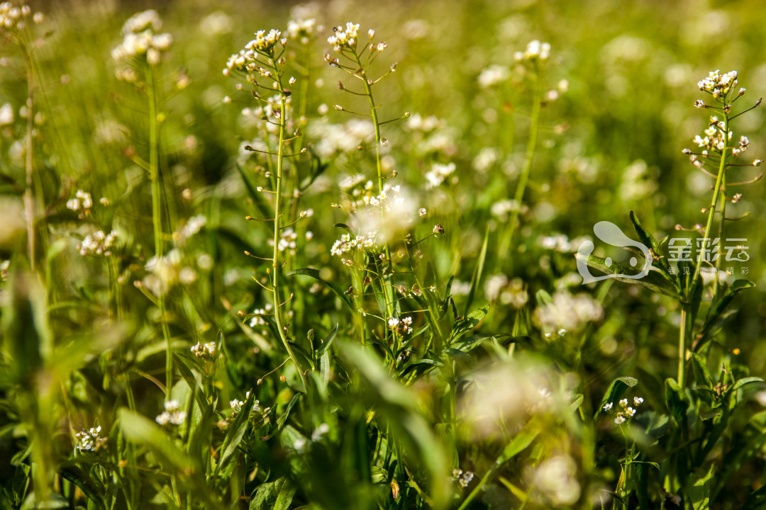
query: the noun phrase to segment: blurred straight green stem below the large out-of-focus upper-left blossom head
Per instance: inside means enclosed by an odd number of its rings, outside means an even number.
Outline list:
[[[152,224],[154,226],[155,264],[162,263],[162,178],[159,174],[159,122],[157,120],[157,94],[152,67],[146,70],[146,94],[149,97],[149,179],[152,180]],[[165,309],[165,292],[159,289],[157,295],[159,320],[162,336],[165,338],[165,399],[170,398],[173,388],[173,357]]]

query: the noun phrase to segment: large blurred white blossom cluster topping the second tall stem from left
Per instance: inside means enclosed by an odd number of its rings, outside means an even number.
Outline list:
[[[150,66],[156,66],[162,57],[162,52],[169,49],[173,43],[171,34],[155,34],[162,28],[162,20],[157,11],[149,9],[139,12],[123,25],[123,42],[112,50],[112,58],[118,62],[130,60],[134,57],[146,56],[146,62]],[[136,74],[130,70],[118,70],[117,77],[120,80],[133,82]]]

